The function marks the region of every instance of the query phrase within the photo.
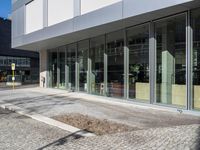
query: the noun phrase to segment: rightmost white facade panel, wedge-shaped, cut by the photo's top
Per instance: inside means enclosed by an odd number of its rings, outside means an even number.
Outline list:
[[[81,0],[81,14],[83,15],[120,1],[122,0]]]

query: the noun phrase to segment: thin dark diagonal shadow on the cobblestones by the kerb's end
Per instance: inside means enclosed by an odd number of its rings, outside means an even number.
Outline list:
[[[51,147],[51,146],[61,146],[61,145],[64,145],[65,143],[67,142],[71,142],[73,140],[77,140],[77,139],[80,139],[80,138],[83,138],[83,136],[79,135],[80,132],[86,132],[86,130],[81,130],[81,131],[77,131],[77,132],[74,132],[70,135],[67,135],[63,138],[60,138],[52,143],[49,143],[41,148],[38,148],[37,150],[43,150],[43,149],[46,149],[48,147]]]

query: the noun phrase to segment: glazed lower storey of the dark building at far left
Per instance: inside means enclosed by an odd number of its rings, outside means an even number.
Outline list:
[[[22,84],[39,82],[39,61],[28,57],[0,56],[0,83],[12,82],[11,64],[15,63],[16,82]]]

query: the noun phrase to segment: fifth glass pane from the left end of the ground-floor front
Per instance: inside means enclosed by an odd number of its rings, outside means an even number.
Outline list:
[[[92,38],[90,40],[90,87],[92,94],[104,94],[104,50],[105,36]]]

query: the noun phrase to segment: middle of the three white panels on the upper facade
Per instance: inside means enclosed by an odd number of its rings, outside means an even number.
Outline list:
[[[48,26],[74,17],[74,0],[48,0]]]

